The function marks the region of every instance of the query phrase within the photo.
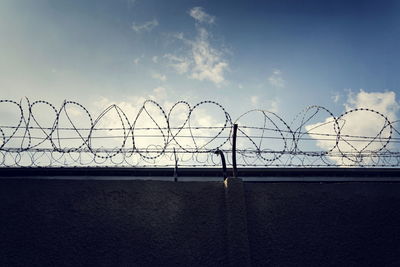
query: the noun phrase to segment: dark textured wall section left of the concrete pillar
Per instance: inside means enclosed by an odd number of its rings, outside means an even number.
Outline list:
[[[0,181],[0,266],[224,266],[222,182]]]

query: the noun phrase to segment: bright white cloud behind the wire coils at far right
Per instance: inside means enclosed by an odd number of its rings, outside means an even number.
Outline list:
[[[396,94],[394,92],[365,92],[360,90],[356,95],[350,93],[347,102],[344,104],[345,112],[348,112],[344,116],[339,118],[338,124],[340,127],[339,148],[335,148],[332,152],[339,153],[339,149],[342,152],[370,152],[379,151],[385,142],[379,141],[379,137],[388,138],[390,134],[389,127],[386,127],[381,133],[381,129],[387,126],[387,122],[381,115],[359,109],[372,109],[384,116],[389,121],[397,120],[397,111],[400,108],[399,103],[396,101]],[[358,110],[355,110],[358,109]],[[353,110],[352,112],[349,112]],[[322,148],[324,151],[330,150],[335,145],[335,137],[332,140],[323,140],[320,134],[336,135],[334,130],[334,120],[332,117],[328,117],[322,123],[314,123],[305,126],[310,137],[316,139],[316,145]],[[379,135],[380,133],[380,135]],[[378,136],[379,135],[379,136]],[[353,137],[348,137],[353,136]],[[377,137],[373,142],[371,139],[361,139],[354,136],[368,136]],[[357,139],[358,141],[354,141]],[[331,157],[337,164],[354,165],[356,162],[366,164],[370,162],[370,158],[356,157],[355,154],[348,158]]]

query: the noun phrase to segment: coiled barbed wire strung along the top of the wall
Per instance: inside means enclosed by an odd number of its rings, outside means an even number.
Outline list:
[[[7,116],[5,114],[8,114]],[[146,100],[129,112],[111,105],[94,116],[82,104],[0,100],[0,167],[215,167],[222,151],[247,167],[398,167],[399,121],[369,108],[335,116],[310,106],[288,123],[250,110],[232,120],[214,101],[179,101],[168,112]]]

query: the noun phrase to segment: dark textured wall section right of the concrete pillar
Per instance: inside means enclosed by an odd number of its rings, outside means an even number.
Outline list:
[[[400,183],[245,183],[253,266],[400,266]]]

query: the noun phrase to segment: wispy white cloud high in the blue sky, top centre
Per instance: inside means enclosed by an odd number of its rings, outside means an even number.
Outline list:
[[[211,22],[211,16],[203,9],[193,8],[190,14],[196,21]],[[213,19],[212,19],[213,20]],[[220,86],[225,82],[225,71],[229,68],[228,62],[223,58],[221,50],[212,46],[209,32],[196,24],[197,35],[195,39],[186,39],[182,33],[174,37],[181,40],[188,50],[185,56],[166,54],[172,66],[179,74],[188,73],[188,77],[199,81],[211,81]]]

